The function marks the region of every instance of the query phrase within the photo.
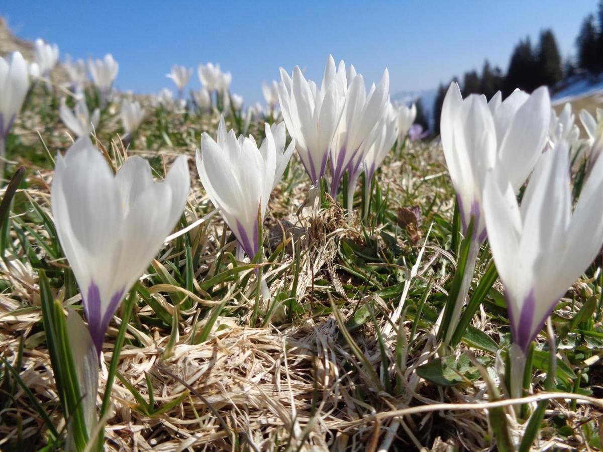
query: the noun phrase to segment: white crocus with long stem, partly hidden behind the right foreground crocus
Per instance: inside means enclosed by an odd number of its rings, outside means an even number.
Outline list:
[[[486,237],[482,202],[485,175],[499,167],[503,170],[499,174],[504,174],[517,192],[545,147],[550,111],[546,87],[538,88],[532,95],[515,90],[504,102],[497,93],[488,103],[480,95],[463,99],[458,84],[450,84],[441,113],[442,146],[456,190],[463,233],[467,233],[472,218],[474,227],[463,282],[444,337],[446,343],[458,323],[479,246]]]

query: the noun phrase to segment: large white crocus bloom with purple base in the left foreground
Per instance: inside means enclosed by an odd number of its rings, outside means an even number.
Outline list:
[[[116,175],[88,137],[78,139],[57,165],[52,216],[77,280],[90,336],[100,354],[107,325],[182,215],[190,187],[186,157],[165,181],[130,157]]]

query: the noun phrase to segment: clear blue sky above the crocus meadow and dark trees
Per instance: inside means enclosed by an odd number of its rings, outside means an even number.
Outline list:
[[[319,80],[329,53],[367,81],[390,71],[391,93],[430,89],[484,58],[505,71],[517,41],[552,28],[563,57],[575,54],[582,19],[595,0],[424,0],[131,2],[10,1],[0,5],[17,36],[56,42],[61,57],[119,62],[116,86],[134,92],[174,89],[172,64],[212,61],[232,72],[232,92],[249,104],[262,81],[298,64]]]

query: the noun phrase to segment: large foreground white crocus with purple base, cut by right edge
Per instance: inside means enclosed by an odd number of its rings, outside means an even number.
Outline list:
[[[493,172],[485,181],[488,240],[505,286],[513,336],[513,397],[521,394],[530,343],[603,243],[603,160],[595,164],[572,213],[568,154],[567,143],[560,140],[540,157],[521,207],[512,184],[500,186]]]

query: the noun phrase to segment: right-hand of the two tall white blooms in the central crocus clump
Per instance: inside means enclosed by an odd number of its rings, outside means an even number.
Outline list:
[[[344,81],[345,83],[341,84],[339,89],[342,90],[346,98],[343,113],[329,151],[331,161],[330,191],[333,198],[335,198],[344,172],[349,169],[356,158],[361,156],[361,152],[368,151],[368,149],[362,148],[362,143],[385,114],[390,92],[390,75],[385,69],[379,85],[375,87],[373,84],[367,95],[364,78],[362,78],[362,75],[356,74],[354,66],[350,65],[346,77],[335,75],[335,61],[333,61],[333,58],[329,58],[327,67],[329,69],[325,72],[325,83],[329,78]],[[343,74],[345,67],[345,63],[341,61],[338,72]]]

